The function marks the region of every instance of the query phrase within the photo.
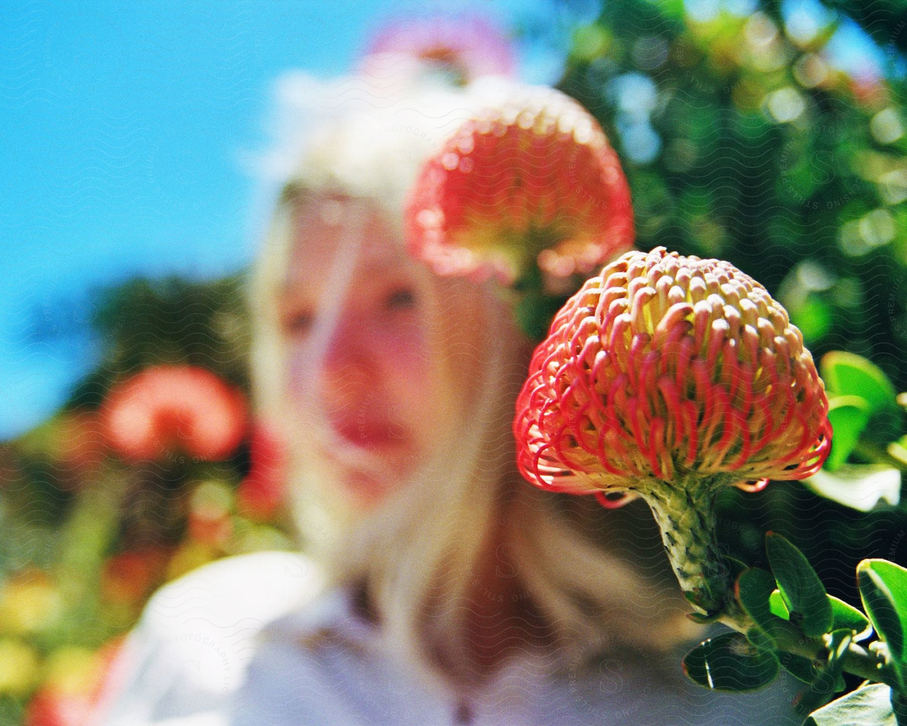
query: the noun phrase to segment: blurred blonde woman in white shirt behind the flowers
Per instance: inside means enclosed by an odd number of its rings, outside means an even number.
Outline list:
[[[255,397],[307,556],[230,558],[162,590],[102,722],[795,723],[784,694],[683,682],[690,631],[654,530],[522,481],[532,345],[491,286],[434,277],[400,231],[471,98],[395,93],[307,132],[254,275]]]

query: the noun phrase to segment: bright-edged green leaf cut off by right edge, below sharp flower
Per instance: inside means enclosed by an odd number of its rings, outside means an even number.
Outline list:
[[[856,574],[866,613],[901,672],[907,631],[907,570],[887,560],[863,560]]]

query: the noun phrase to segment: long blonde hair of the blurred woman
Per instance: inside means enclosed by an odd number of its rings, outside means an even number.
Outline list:
[[[287,395],[276,298],[286,280],[295,215],[313,209],[307,201],[341,199],[353,201],[351,209],[378,206],[398,222],[419,162],[463,119],[469,103],[466,94],[434,90],[334,114],[310,132],[279,195],[251,289],[253,389],[260,414],[288,434],[303,546],[326,564],[335,583],[365,584],[387,643],[442,681],[471,672],[463,626],[483,597],[474,581],[490,546],[496,574],[517,578],[550,623],[564,664],[615,643],[666,650],[685,634],[676,587],[641,576],[614,544],[590,536],[590,528],[602,525],[594,502],[541,492],[516,473],[513,403],[531,348],[515,328],[510,305],[493,289],[434,280],[424,271],[433,385],[446,424],[434,455],[374,510],[357,513],[336,495],[341,487],[331,485],[329,466],[316,453],[314,437],[325,428],[317,402],[312,398],[303,411],[297,403],[294,410]],[[346,228],[352,251],[346,259],[338,252],[331,272],[340,289],[331,289],[333,302],[318,310],[328,321],[325,308],[336,307],[355,285],[350,272],[364,243],[355,221]],[[481,375],[469,390],[453,390],[464,356],[482,358]],[[660,546],[653,556],[663,557]],[[659,565],[649,561],[655,571]]]

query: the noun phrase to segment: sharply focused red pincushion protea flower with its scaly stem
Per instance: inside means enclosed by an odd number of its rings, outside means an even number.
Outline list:
[[[645,499],[681,586],[714,612],[727,595],[717,490],[814,474],[827,412],[800,331],[762,285],[657,248],[622,255],[561,309],[513,426],[536,486]]]

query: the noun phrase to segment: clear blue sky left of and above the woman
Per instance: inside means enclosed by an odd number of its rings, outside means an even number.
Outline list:
[[[255,186],[241,159],[266,142],[278,74],[342,74],[386,19],[458,8],[541,22],[523,76],[556,80],[571,17],[554,0],[6,0],[0,438],[51,413],[91,368],[97,289],[249,261]]]

